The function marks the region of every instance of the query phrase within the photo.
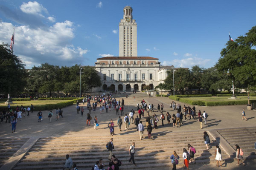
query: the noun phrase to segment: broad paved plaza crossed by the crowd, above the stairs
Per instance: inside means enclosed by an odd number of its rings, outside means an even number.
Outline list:
[[[166,114],[168,111],[171,115],[173,113],[176,114],[175,111],[170,110],[170,102],[172,102],[171,99],[167,97],[148,97],[145,93],[128,93],[128,98],[125,97],[125,94],[117,95],[116,98],[122,100],[122,98],[125,100],[125,109],[124,113],[129,114],[130,110],[133,108],[135,111],[134,118],[138,115],[136,104],[137,102],[140,104],[141,100],[145,99],[145,102],[147,105],[150,103],[153,103],[154,105],[154,113],[157,114],[157,117],[160,119],[160,112],[157,111],[157,104],[163,103],[164,109],[163,112]],[[136,96],[136,101],[134,102],[133,96]],[[176,102],[180,104],[183,108],[184,103]],[[186,104],[185,104],[186,105]],[[93,120],[91,121],[91,125],[86,125],[86,115],[87,115],[87,109],[86,106],[80,103],[80,106],[85,107],[84,116],[81,116],[80,114],[76,113],[76,107],[75,105],[69,106],[67,108],[63,108],[63,116],[64,118],[60,118],[57,121],[55,121],[55,111],[52,111],[54,114],[52,116],[52,122],[49,123],[49,119],[47,118],[49,111],[43,111],[43,121],[38,122],[38,116],[37,111],[34,111],[30,114],[29,117],[22,118],[22,121],[18,120],[16,131],[15,133],[11,133],[11,127],[7,123],[2,123],[2,130],[0,132],[0,138],[1,139],[17,139],[17,138],[26,138],[29,139],[23,146],[20,147],[20,149],[17,151],[17,153],[14,154],[16,156],[15,158],[11,157],[9,161],[7,161],[3,166],[0,168],[2,169],[10,169],[11,167],[14,167],[15,164],[17,164],[17,161],[22,159],[22,157],[29,151],[29,148],[31,148],[35,142],[38,141],[40,138],[45,137],[70,137],[76,138],[76,137],[86,137],[87,140],[90,140],[91,138],[95,138],[96,136],[99,137],[99,139],[104,137],[110,137],[110,132],[107,127],[107,123],[110,119],[113,119],[114,125],[115,125],[115,135],[113,138],[126,138],[129,136],[133,136],[134,142],[140,143],[140,137],[139,133],[136,130],[136,125],[131,124],[129,130],[125,130],[125,125],[122,125],[122,131],[119,131],[118,125],[117,125],[117,119],[118,116],[116,115],[116,111],[112,110],[108,111],[108,113],[102,113],[99,112],[99,107],[96,111],[92,111],[91,116],[94,117],[95,115],[98,118],[99,127],[97,130],[94,130],[93,128]],[[98,105],[99,106],[99,105]],[[203,123],[203,129],[200,129],[198,119],[196,120],[187,120],[183,118],[183,125],[181,127],[175,127],[167,125],[167,120],[164,121],[165,126],[162,127],[161,121],[158,123],[158,128],[153,129],[152,131],[152,137],[156,136],[172,136],[172,134],[181,133],[182,135],[186,133],[187,134],[193,134],[193,133],[202,133],[202,143],[203,141],[203,132],[208,131],[208,133],[211,134],[211,138],[217,139],[215,142],[219,143],[222,148],[222,155],[227,154],[227,156],[232,156],[233,152],[235,150],[232,148],[234,146],[230,146],[229,141],[226,141],[220,133],[218,133],[218,130],[226,130],[229,128],[235,128],[234,131],[237,129],[243,130],[245,127],[247,127],[249,130],[256,129],[256,111],[247,111],[246,110],[246,118],[247,121],[242,120],[241,111],[243,108],[246,108],[246,105],[230,105],[230,106],[217,106],[217,107],[206,107],[206,106],[196,106],[196,111],[201,110],[206,111],[208,113],[208,121],[207,125],[204,125]],[[183,112],[183,109],[182,109]],[[146,115],[146,112],[145,112]],[[150,115],[153,115],[153,112],[150,113]],[[120,116],[120,112],[119,112]],[[123,119],[124,116],[121,118]],[[146,116],[145,116],[146,118]],[[145,125],[145,118],[142,119],[143,125]],[[230,131],[232,131],[230,129]],[[144,133],[145,134],[145,133]],[[243,133],[239,133],[239,131],[236,133],[237,137],[242,135]],[[252,131],[250,131],[250,134],[255,138],[255,133],[253,134]],[[137,136],[137,137],[136,137]],[[146,135],[145,135],[146,136]],[[246,138],[246,137],[241,137]],[[192,142],[192,141],[191,141]],[[256,142],[256,140],[255,140]],[[189,142],[188,142],[189,143]],[[209,164],[193,164],[189,167],[189,169],[233,169],[233,170],[254,170],[256,169],[256,161],[255,161],[255,150],[253,148],[253,144],[251,143],[251,156],[248,156],[248,160],[246,162],[246,166],[236,166],[236,159],[235,161],[227,161],[224,163],[224,167],[216,167],[216,162],[209,163]],[[157,143],[156,143],[157,145]],[[145,146],[146,147],[146,146]],[[197,148],[199,149],[199,148]],[[204,149],[204,148],[202,148]],[[243,149],[243,148],[242,148]],[[18,154],[19,153],[19,154]],[[253,154],[254,153],[254,154]],[[117,154],[117,153],[116,153]],[[19,156],[20,155],[20,156]],[[180,155],[181,156],[181,155]],[[227,157],[226,156],[226,157]],[[223,156],[224,157],[224,156]],[[135,158],[136,159],[136,158]],[[16,162],[15,162],[16,161]],[[171,160],[168,160],[171,161]],[[183,164],[182,158],[180,159],[180,165]],[[64,165],[64,161],[63,161]],[[91,164],[93,166],[93,164]],[[80,168],[81,169],[81,168]],[[79,169],[79,170],[80,170]],[[90,168],[87,168],[90,169]],[[120,167],[120,169],[126,169]],[[164,169],[164,168],[161,168]],[[167,168],[168,169],[168,168]],[[180,167],[180,169],[183,169]]]

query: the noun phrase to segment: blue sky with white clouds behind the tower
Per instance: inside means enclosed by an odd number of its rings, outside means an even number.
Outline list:
[[[255,0],[0,0],[0,42],[11,43],[26,68],[94,65],[119,55],[119,21],[133,8],[138,56],[163,65],[215,65],[220,51],[255,26]]]

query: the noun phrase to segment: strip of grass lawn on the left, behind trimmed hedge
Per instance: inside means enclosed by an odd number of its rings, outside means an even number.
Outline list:
[[[31,101],[13,101],[12,106],[15,105],[23,105],[23,106],[29,106],[29,105],[47,105],[47,104],[57,104],[60,102],[65,102],[65,101],[72,101],[72,100],[31,100]],[[0,102],[0,105],[5,105],[5,102]]]

